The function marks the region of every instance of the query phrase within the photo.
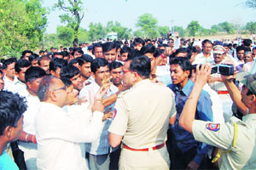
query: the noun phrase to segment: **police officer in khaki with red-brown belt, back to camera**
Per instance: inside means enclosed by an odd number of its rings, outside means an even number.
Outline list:
[[[122,141],[120,169],[169,169],[166,131],[175,117],[174,94],[165,85],[150,82],[150,61],[146,56],[124,64],[123,83],[116,116],[108,131],[112,147]]]

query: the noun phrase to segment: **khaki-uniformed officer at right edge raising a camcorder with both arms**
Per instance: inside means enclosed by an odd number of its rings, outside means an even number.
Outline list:
[[[240,80],[244,86],[239,93],[232,81],[235,76],[222,77],[230,96],[240,110],[247,109],[242,121],[231,117],[230,122],[215,124],[195,120],[195,108],[201,89],[211,73],[209,65],[197,67],[195,86],[179,118],[181,127],[193,133],[196,140],[219,148],[220,169],[256,168],[256,73],[245,74]],[[237,77],[237,75],[236,75]]]

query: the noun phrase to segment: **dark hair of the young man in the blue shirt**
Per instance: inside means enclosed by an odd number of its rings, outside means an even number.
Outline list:
[[[192,65],[186,57],[174,57],[170,59],[170,65],[179,65],[183,71],[189,71],[191,77]]]

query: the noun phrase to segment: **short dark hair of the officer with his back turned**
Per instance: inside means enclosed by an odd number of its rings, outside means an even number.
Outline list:
[[[130,71],[136,71],[140,77],[148,78],[151,72],[151,64],[148,57],[141,55],[131,59]]]

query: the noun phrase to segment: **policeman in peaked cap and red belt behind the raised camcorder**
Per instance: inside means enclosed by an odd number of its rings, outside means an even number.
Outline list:
[[[224,63],[229,63],[234,65],[232,59],[225,54],[225,48],[221,45],[216,45],[213,47],[213,59],[214,64],[212,66],[221,65]],[[231,111],[232,107],[232,99],[230,98],[229,91],[222,82],[220,77],[220,73],[218,71],[216,73],[211,74],[208,78],[209,86],[218,93],[219,98],[223,103],[223,111],[224,111],[224,120],[225,122],[229,121],[230,117],[233,115]]]

